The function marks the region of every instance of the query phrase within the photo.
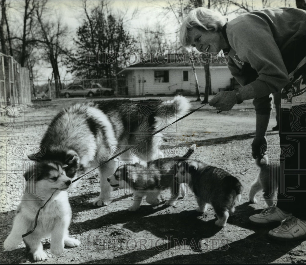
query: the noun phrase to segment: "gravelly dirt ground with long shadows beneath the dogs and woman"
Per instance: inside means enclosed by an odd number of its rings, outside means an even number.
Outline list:
[[[39,145],[54,115],[62,107],[84,100],[88,99],[35,103],[14,109],[15,118],[6,118],[5,122],[13,127],[0,134],[1,263],[35,263],[23,242],[12,252],[3,250],[22,194],[22,165],[27,161],[26,155]],[[199,106],[200,103],[192,102],[193,109]],[[267,139],[270,156],[278,158],[278,132],[271,131],[273,126],[275,112]],[[94,171],[69,191],[73,211],[69,232],[81,245],[65,248],[61,256],[52,256],[50,239],[46,239],[43,246],[48,259],[40,263],[305,263],[306,241],[273,241],[267,237],[273,227],[256,227],[248,221],[250,215],[267,207],[260,200],[260,193],[257,204],[248,201],[251,183],[258,173],[251,157],[254,132],[252,101],[219,114],[207,105],[179,121],[176,132],[168,134],[160,144],[165,153],[171,147],[182,155],[186,146],[196,143],[196,159],[225,169],[241,180],[242,199],[226,227],[215,226],[212,208],[203,214],[196,212],[197,203],[191,191],[174,207],[164,205],[170,194],[166,190],[158,206],[143,201],[137,212],[129,212],[132,194],[118,190],[113,191],[114,201],[110,205],[96,208],[92,201],[98,197],[100,188],[98,172]]]

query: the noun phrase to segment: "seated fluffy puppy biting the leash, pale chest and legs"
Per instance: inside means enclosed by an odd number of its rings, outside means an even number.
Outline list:
[[[42,238],[51,236],[50,249],[54,255],[62,254],[64,245],[80,245],[80,241],[69,238],[68,234],[71,208],[67,189],[71,179],[66,176],[64,167],[59,163],[45,162],[39,164],[36,173],[25,173],[26,190],[18,205],[12,231],[4,241],[5,250],[16,249],[23,239],[34,260],[40,261],[47,258],[43,251]],[[52,198],[46,203],[52,194]],[[45,203],[45,207],[39,213],[35,230],[22,238],[23,234],[34,228],[36,213]]]

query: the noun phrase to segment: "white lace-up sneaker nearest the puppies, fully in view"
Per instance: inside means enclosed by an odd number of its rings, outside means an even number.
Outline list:
[[[255,224],[268,224],[273,222],[281,222],[287,217],[292,216],[291,213],[285,213],[273,203],[271,207],[264,209],[261,213],[251,215],[249,220]]]

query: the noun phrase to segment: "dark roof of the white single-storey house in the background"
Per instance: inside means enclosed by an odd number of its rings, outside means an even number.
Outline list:
[[[118,74],[121,74],[123,71],[128,70],[136,70],[136,69],[153,69],[153,68],[190,68],[192,64],[192,60],[194,61],[194,66],[196,68],[203,67],[205,63],[209,60],[203,54],[195,55],[194,53],[190,55],[189,53],[171,53],[166,56],[151,56],[149,58],[143,59],[141,62],[136,64],[132,64],[123,70],[121,70]],[[220,56],[216,56],[213,59],[210,59],[211,66],[223,66],[226,67],[227,59],[222,58]]]

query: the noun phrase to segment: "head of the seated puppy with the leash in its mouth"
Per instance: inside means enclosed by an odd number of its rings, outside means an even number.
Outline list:
[[[28,171],[24,175],[27,187],[32,187],[34,184],[35,192],[39,194],[56,189],[67,190],[71,184],[71,179],[66,176],[65,167],[67,166],[60,163],[37,162],[36,171]]]

